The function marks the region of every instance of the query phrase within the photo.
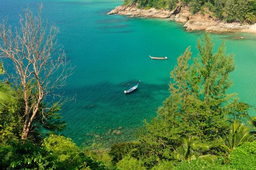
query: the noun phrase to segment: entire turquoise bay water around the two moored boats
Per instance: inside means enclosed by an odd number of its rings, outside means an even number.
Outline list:
[[[21,7],[34,0],[0,0],[0,18],[9,16],[17,23]],[[124,141],[133,138],[143,119],[156,116],[157,108],[169,95],[169,72],[177,57],[192,46],[194,56],[197,39],[203,32],[188,33],[182,24],[165,19],[131,18],[106,15],[122,0],[43,0],[43,15],[60,28],[60,43],[75,66],[66,96],[75,100],[63,106],[67,122],[65,134],[82,144],[94,138]],[[212,34],[216,46],[226,41],[227,52],[236,57],[236,70],[231,77],[241,101],[256,105],[256,35]],[[235,40],[235,36],[244,39]],[[148,55],[167,56],[168,60],[151,60]],[[124,90],[141,84],[137,91],[125,95]],[[254,114],[252,112],[251,114]],[[113,129],[122,126],[122,135]]]

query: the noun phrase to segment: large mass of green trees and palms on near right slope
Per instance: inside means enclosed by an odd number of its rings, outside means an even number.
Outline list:
[[[197,48],[199,56],[193,61],[190,47],[178,58],[170,73],[171,95],[158,116],[145,121],[139,141],[111,147],[114,164],[132,166],[136,159],[137,165],[153,170],[236,169],[233,152],[255,141],[255,118],[249,117],[248,104],[227,93],[235,67],[234,56],[225,54],[225,44],[214,53],[212,39],[205,34]]]

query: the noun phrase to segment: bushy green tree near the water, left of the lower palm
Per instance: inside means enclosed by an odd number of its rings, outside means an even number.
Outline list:
[[[172,121],[173,120],[173,121]],[[145,122],[140,132],[144,158],[158,155],[160,159],[173,159],[172,151],[180,144],[183,130],[178,126],[176,117],[173,119],[154,118]]]

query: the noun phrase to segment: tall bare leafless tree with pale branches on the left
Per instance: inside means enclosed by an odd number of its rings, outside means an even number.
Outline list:
[[[21,86],[24,94],[22,139],[28,136],[38,112],[42,110],[43,114],[44,109],[51,109],[51,106],[40,108],[40,103],[47,96],[62,98],[62,95],[54,94],[54,89],[65,85],[72,71],[56,39],[58,28],[44,22],[41,12],[42,5],[39,5],[37,16],[33,15],[29,7],[24,9],[15,29],[8,26],[7,21],[0,24],[0,56],[13,64],[13,80]]]

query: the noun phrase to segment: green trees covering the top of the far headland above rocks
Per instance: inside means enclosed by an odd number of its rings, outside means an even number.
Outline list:
[[[138,8],[169,10],[178,2],[189,6],[192,14],[201,11],[227,22],[256,22],[256,0],[125,0],[126,5],[137,5]]]

